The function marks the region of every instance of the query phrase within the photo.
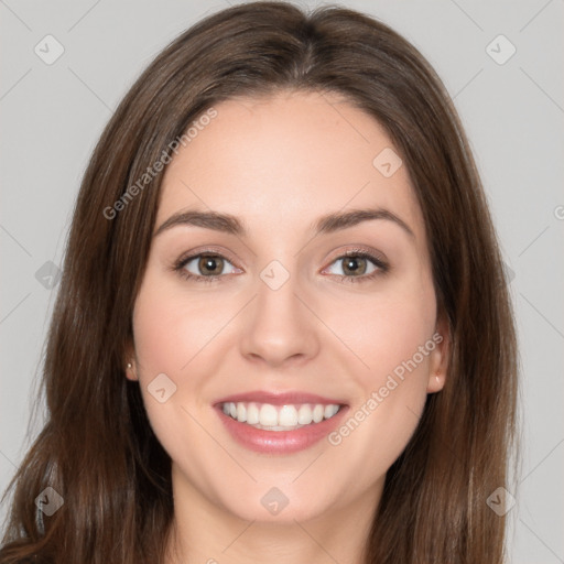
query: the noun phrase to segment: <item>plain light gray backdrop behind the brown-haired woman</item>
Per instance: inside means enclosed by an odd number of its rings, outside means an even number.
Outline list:
[[[56,292],[56,276],[44,264],[62,262],[94,144],[152,57],[229,3],[0,0],[2,489],[41,427],[42,406],[29,421]],[[514,275],[523,469],[509,512],[511,562],[564,562],[564,2],[343,4],[381,19],[414,43],[460,112]],[[47,50],[47,34],[65,50],[51,65],[34,52],[36,45]],[[499,34],[517,48],[503,64],[511,47],[505,40],[491,43]],[[53,55],[55,44],[48,50]]]

